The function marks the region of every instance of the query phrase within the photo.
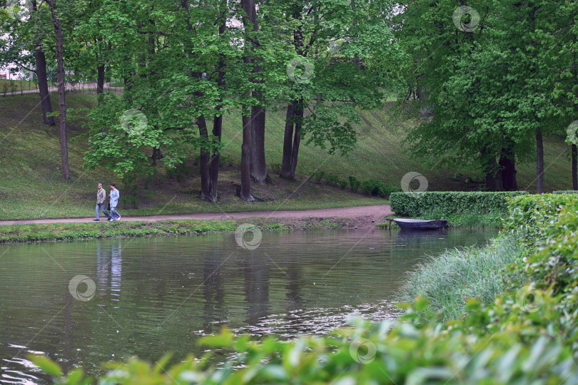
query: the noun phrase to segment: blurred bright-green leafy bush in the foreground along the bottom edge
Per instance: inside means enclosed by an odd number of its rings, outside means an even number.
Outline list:
[[[508,299],[511,301],[510,299]],[[228,330],[205,337],[201,344],[233,352],[222,369],[208,364],[208,354],[169,365],[138,359],[108,363],[98,384],[575,384],[578,366],[566,340],[542,332],[557,311],[544,299],[536,319],[504,300],[482,309],[471,300],[465,324],[430,326],[417,319],[427,300],[418,299],[401,322],[370,325],[352,319],[353,328],[330,337],[299,337],[291,342],[273,336],[261,343],[234,337]],[[507,322],[485,331],[506,307]],[[43,356],[31,361],[54,376],[55,384],[93,384],[81,369],[63,376],[59,364]],[[233,369],[235,368],[235,369]]]

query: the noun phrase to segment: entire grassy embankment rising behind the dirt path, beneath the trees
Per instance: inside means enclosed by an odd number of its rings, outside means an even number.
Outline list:
[[[56,108],[56,96],[52,98]],[[86,93],[71,93],[69,108],[91,107],[95,97]],[[0,109],[0,220],[51,217],[91,217],[94,215],[93,195],[96,183],[116,183],[118,178],[104,169],[86,172],[82,168],[83,153],[88,149],[86,138],[74,140],[85,132],[79,123],[69,124],[69,159],[71,179],[61,178],[59,134],[57,127],[41,123],[39,97],[36,94],[1,97]],[[253,185],[253,195],[263,200],[247,204],[235,196],[239,183],[240,116],[225,116],[223,123],[223,168],[220,173],[220,200],[217,205],[200,199],[200,179],[195,159],[198,151],[191,150],[190,168],[175,173],[159,167],[158,173],[141,190],[135,205],[119,205],[123,215],[159,215],[186,212],[233,212],[250,210],[290,210],[348,205],[385,203],[385,200],[341,190],[337,185],[314,183],[305,175],[314,170],[335,173],[342,179],[349,175],[359,180],[375,179],[399,185],[405,173],[417,171],[428,179],[430,190],[476,190],[481,180],[467,170],[428,170],[420,159],[403,153],[401,142],[410,122],[389,123],[387,108],[362,111],[363,124],[358,127],[358,144],[350,155],[328,155],[323,150],[302,143],[298,178],[281,180],[274,170],[281,162],[283,146],[283,111],[268,111],[266,130],[267,159],[271,184]],[[559,156],[567,145],[557,138],[547,138],[546,186],[549,190],[568,188],[569,160]],[[534,166],[522,165],[518,171],[521,188],[532,190]],[[123,186],[119,185],[121,194]],[[133,207],[136,206],[136,207]],[[138,208],[137,208],[138,207]]]

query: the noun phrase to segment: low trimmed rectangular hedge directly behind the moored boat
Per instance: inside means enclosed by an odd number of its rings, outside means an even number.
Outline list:
[[[509,192],[463,192],[463,191],[432,191],[421,193],[420,197],[412,197],[407,193],[392,193],[390,195],[391,210],[397,215],[420,217],[425,212],[437,209],[445,215],[462,214],[464,212],[507,212],[507,197],[527,195],[527,191]]]

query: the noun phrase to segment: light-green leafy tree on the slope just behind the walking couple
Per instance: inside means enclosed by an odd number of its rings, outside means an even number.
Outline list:
[[[200,149],[201,197],[216,202],[221,117],[240,103],[235,82],[243,73],[235,66],[243,31],[227,28],[234,10],[218,1],[104,0],[94,17],[125,88],[122,98],[103,96],[91,113],[86,167],[103,163],[132,178]]]

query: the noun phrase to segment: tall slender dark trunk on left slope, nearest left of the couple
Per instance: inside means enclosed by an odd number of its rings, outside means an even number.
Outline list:
[[[65,86],[64,83],[64,54],[62,29],[60,20],[56,14],[56,0],[46,1],[49,4],[52,14],[52,24],[54,25],[54,33],[56,34],[56,74],[59,78],[59,109],[60,109],[60,151],[62,158],[62,178],[70,179],[69,173],[69,149],[68,140],[66,138],[66,100],[65,100]]]

